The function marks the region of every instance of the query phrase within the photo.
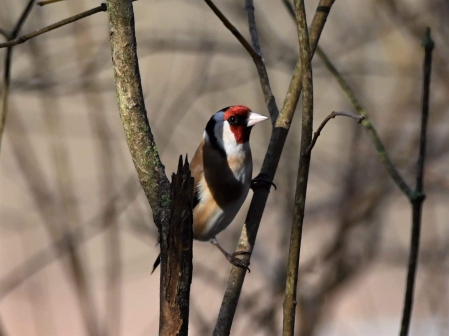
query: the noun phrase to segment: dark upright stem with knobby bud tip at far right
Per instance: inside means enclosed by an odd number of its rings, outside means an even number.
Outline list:
[[[413,309],[413,291],[415,286],[416,268],[418,266],[419,241],[421,233],[422,204],[425,199],[424,194],[424,161],[426,158],[427,141],[427,120],[429,118],[429,97],[430,97],[430,74],[432,71],[432,52],[435,44],[430,36],[430,28],[426,28],[423,38],[424,64],[423,64],[423,98],[421,114],[421,135],[419,144],[418,171],[416,174],[416,188],[412,203],[412,233],[410,244],[410,255],[408,261],[407,286],[404,298],[404,308],[402,313],[401,336],[407,336],[410,328],[410,320]]]

